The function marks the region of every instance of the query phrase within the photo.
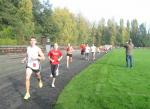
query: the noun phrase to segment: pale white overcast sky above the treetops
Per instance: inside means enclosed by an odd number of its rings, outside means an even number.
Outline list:
[[[42,0],[41,0],[42,1]],[[68,8],[74,14],[82,14],[90,22],[114,18],[119,22],[137,19],[139,24],[150,27],[150,0],[49,0],[52,8]]]

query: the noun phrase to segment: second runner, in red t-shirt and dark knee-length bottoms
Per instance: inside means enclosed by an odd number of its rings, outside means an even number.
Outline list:
[[[48,59],[51,64],[51,73],[53,76],[52,87],[55,87],[56,80],[56,70],[58,69],[59,61],[62,59],[62,52],[58,49],[58,44],[54,44],[54,49],[50,50],[48,53]]]

